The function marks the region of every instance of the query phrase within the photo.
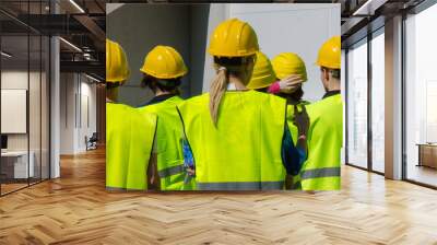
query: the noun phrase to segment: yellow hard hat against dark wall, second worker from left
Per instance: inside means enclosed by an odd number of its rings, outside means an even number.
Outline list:
[[[182,57],[169,46],[156,46],[144,58],[140,71],[158,79],[175,79],[187,74]]]

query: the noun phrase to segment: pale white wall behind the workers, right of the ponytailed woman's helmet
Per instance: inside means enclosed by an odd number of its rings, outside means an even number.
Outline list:
[[[250,23],[261,51],[271,59],[280,52],[298,54],[308,72],[304,97],[312,102],[322,97],[320,71],[314,63],[320,46],[331,36],[340,35],[340,3],[231,4],[229,16]]]

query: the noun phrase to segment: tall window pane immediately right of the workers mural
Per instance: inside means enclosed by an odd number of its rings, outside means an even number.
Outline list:
[[[367,40],[347,52],[347,161],[367,167]]]

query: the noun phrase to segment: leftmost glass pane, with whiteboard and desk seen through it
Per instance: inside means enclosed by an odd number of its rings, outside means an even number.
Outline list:
[[[34,165],[28,156],[28,37],[2,36],[1,49],[1,182],[2,194],[27,186]]]

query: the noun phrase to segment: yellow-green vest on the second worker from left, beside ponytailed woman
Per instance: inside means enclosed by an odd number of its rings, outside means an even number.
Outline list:
[[[157,174],[161,190],[190,190],[194,188],[194,180],[185,183],[187,177],[184,167],[184,154],[180,139],[184,128],[176,106],[184,100],[173,96],[164,102],[140,107],[140,112],[157,115],[156,128],[156,156]]]

